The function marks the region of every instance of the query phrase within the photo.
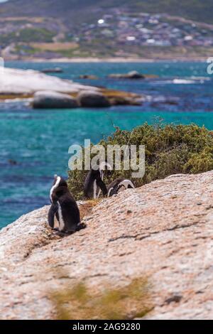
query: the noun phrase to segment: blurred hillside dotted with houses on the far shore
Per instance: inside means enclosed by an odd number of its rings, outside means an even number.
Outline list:
[[[212,1],[9,0],[0,4],[1,56],[206,58]]]

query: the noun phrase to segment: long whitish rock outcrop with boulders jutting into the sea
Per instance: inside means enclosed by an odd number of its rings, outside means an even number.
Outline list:
[[[92,79],[91,77],[89,79]],[[94,79],[94,78],[93,78]],[[51,97],[44,95],[51,90]],[[43,92],[43,95],[41,92]],[[53,97],[52,92],[55,92]],[[37,94],[36,94],[37,93]],[[46,75],[42,72],[34,70],[16,70],[13,68],[4,68],[0,75],[0,101],[1,102],[28,102],[31,105],[33,95],[37,104],[43,108],[47,104],[47,108],[64,108],[67,102],[62,102],[62,95],[69,95],[68,107],[72,104],[75,107],[74,99],[78,99],[80,107],[110,107],[111,105],[138,105],[141,104],[141,95],[131,92],[122,92],[119,90],[108,90],[104,87],[92,87],[80,85],[72,82],[72,80],[62,80],[60,77]],[[39,99],[38,99],[39,95]],[[41,96],[42,95],[42,96]],[[48,93],[49,95],[49,93]],[[72,102],[71,102],[71,98]],[[55,104],[53,104],[55,99]],[[66,97],[68,99],[68,96]],[[62,102],[62,104],[61,104]]]

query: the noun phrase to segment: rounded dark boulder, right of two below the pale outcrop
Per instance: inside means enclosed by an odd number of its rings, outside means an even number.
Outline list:
[[[77,95],[77,102],[81,107],[99,108],[110,107],[110,102],[101,92],[83,91]]]

